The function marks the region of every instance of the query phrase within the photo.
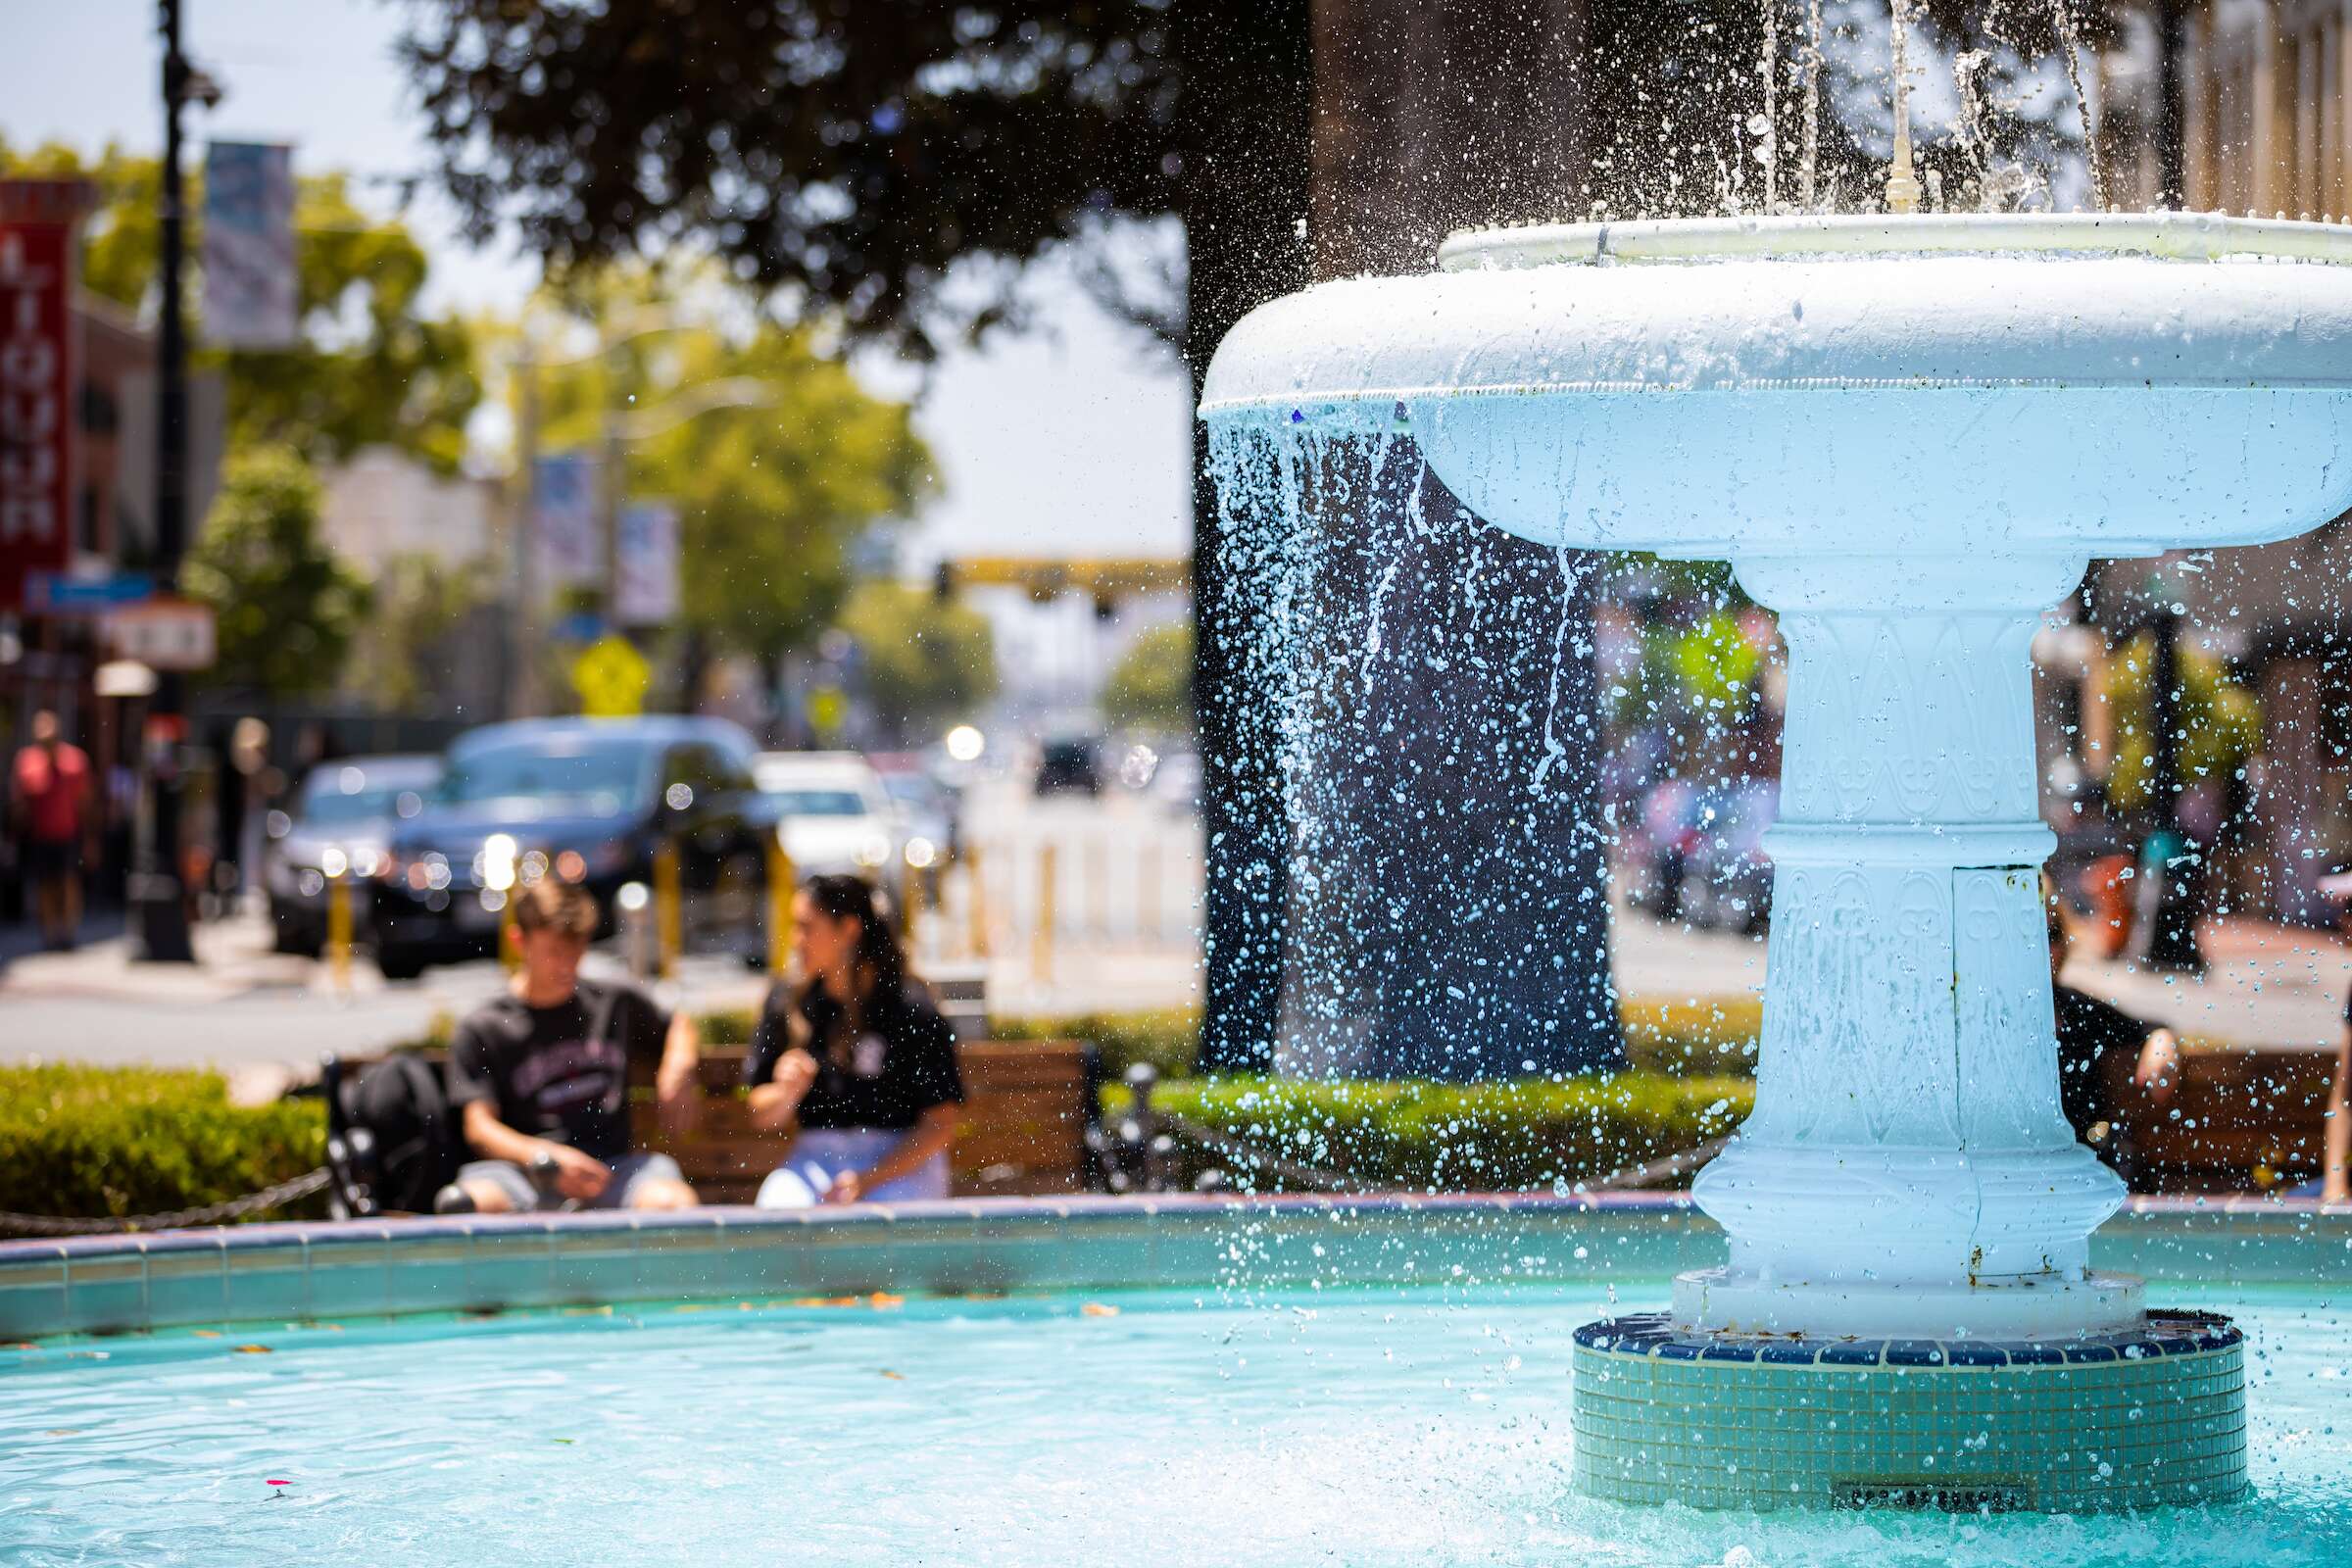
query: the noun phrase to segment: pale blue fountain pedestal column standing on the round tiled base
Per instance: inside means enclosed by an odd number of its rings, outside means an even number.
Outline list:
[[[2124,1185],[2058,1103],[2034,799],[2042,611],[2082,555],[1740,557],[1790,651],[1755,1112],[1698,1178],[1731,1262],[1675,1319],[1757,1333],[2119,1328]]]

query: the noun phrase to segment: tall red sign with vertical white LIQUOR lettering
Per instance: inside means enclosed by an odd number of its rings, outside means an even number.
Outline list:
[[[80,181],[0,181],[0,611],[73,559]]]

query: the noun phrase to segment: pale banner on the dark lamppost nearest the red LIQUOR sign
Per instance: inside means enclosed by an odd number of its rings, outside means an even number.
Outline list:
[[[294,148],[214,141],[205,148],[205,339],[219,348],[294,348]]]

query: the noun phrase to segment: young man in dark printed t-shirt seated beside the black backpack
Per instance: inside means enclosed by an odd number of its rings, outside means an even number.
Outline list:
[[[628,1065],[659,1056],[666,1119],[691,1114],[701,1044],[694,1020],[628,985],[579,978],[597,907],[569,882],[515,896],[522,969],[508,994],[459,1025],[449,1100],[480,1157],[442,1187],[440,1213],[522,1208],[691,1208],[668,1154],[630,1150]]]

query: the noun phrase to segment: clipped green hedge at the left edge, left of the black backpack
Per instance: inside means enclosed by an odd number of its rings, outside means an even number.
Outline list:
[[[230,1105],[216,1072],[0,1067],[0,1208],[12,1213],[122,1218],[200,1208],[325,1159],[320,1100]]]

